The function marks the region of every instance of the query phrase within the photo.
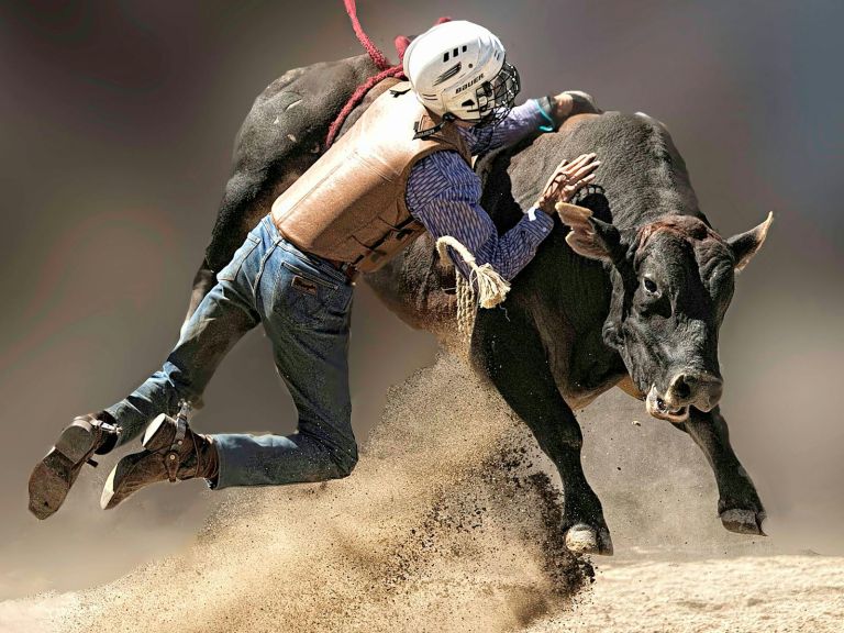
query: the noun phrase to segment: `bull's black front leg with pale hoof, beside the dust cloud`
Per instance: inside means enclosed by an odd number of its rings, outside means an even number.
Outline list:
[[[473,352],[507,403],[528,424],[563,481],[563,525],[573,552],[612,554],[601,502],[580,464],[582,434],[559,395],[533,324],[517,312],[484,310],[478,314]]]

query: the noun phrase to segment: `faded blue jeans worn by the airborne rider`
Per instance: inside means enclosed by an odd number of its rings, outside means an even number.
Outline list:
[[[287,242],[267,215],[216,276],[159,371],[108,409],[136,437],[181,400],[197,402],[229,349],[258,323],[299,412],[297,433],[212,435],[220,455],[214,488],[322,481],[357,463],[348,393],[353,285],[320,257]]]

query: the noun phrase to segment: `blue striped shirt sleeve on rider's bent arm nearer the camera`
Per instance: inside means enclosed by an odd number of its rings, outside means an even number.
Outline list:
[[[534,209],[499,237],[492,219],[480,206],[480,179],[456,152],[435,152],[417,163],[408,179],[406,200],[411,214],[440,238],[451,235],[475,256],[512,279],[536,254],[554,227],[547,213]],[[452,260],[466,279],[470,270],[449,248]]]

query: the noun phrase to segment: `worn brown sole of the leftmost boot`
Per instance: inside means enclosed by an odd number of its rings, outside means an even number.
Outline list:
[[[30,512],[36,518],[52,517],[64,503],[78,471],[74,469],[93,448],[95,434],[77,425],[67,426],[30,475]]]

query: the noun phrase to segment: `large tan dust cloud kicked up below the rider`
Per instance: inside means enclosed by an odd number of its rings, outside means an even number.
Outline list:
[[[352,477],[222,492],[186,553],[80,592],[62,629],[523,628],[592,574],[562,544],[541,465],[499,397],[441,355],[391,389]]]

